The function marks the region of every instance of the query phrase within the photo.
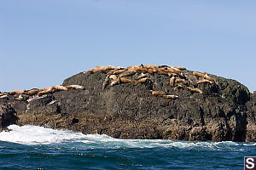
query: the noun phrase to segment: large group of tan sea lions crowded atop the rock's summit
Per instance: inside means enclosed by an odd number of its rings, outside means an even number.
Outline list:
[[[147,82],[150,80],[146,73],[149,75],[160,74],[170,77],[169,83],[175,91],[179,91],[181,89],[188,89],[192,93],[203,94],[201,89],[196,88],[201,83],[210,83],[213,84],[215,81],[212,77],[209,77],[207,72],[193,72],[193,75],[196,77],[197,82],[193,84],[193,88],[189,87],[191,84],[187,77],[184,76],[182,70],[186,70],[184,67],[180,66],[171,66],[171,65],[132,65],[127,68],[124,67],[115,67],[112,65],[103,65],[96,66],[89,71],[90,73],[96,73],[99,71],[105,72],[107,77],[105,78],[102,84],[102,90],[107,88],[108,85],[113,86],[119,83],[133,82],[134,86],[137,86],[138,83]],[[85,73],[85,72],[84,72]],[[137,80],[131,80],[125,77],[131,77],[136,73],[141,73]],[[166,99],[177,99],[177,95],[166,94],[164,91],[154,91],[150,90],[151,94],[154,96],[161,95]]]

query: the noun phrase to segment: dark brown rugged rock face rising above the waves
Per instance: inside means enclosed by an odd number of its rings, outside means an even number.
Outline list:
[[[130,77],[137,81],[141,74]],[[182,71],[192,87],[193,71]],[[235,80],[209,75],[215,83],[201,83],[203,94],[183,88],[174,90],[170,77],[148,74],[148,79],[107,86],[103,71],[81,72],[63,86],[85,89],[0,99],[2,127],[16,123],[65,128],[82,133],[108,134],[121,139],[232,140],[256,142],[256,94]],[[183,82],[177,82],[183,84]],[[154,96],[150,90],[177,95],[177,99]]]

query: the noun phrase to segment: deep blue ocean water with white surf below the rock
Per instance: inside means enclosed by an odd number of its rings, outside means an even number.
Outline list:
[[[243,169],[256,143],[113,139],[37,126],[0,133],[0,169]]]

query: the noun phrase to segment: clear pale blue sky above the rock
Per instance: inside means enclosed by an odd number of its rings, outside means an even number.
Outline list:
[[[0,0],[0,91],[96,65],[177,65],[256,90],[254,0]]]

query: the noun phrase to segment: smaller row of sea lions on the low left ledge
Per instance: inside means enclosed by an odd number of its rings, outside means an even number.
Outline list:
[[[79,85],[68,85],[68,86],[56,85],[56,86],[52,86],[49,88],[42,88],[42,89],[32,88],[31,90],[14,90],[9,93],[0,93],[0,99],[6,98],[8,97],[8,95],[19,94],[19,97],[15,99],[21,100],[23,99],[22,94],[26,94],[30,96],[32,95],[41,96],[43,94],[52,94],[58,91],[67,91],[68,89],[84,89],[84,87]]]

